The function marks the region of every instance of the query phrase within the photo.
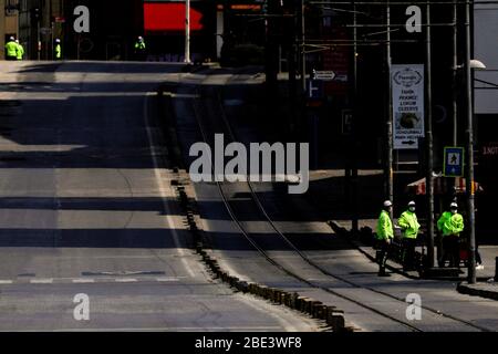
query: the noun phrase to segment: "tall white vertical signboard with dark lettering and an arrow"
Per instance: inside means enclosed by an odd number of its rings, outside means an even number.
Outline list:
[[[393,147],[418,148],[424,137],[424,65],[392,65]]]

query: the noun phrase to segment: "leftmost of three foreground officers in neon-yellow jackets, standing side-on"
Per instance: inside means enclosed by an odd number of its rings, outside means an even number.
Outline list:
[[[378,262],[378,277],[390,277],[385,272],[385,262],[391,249],[391,242],[394,238],[393,222],[391,220],[391,212],[393,210],[393,204],[391,200],[384,201],[384,208],[381,211],[377,220],[376,232],[376,259]]]

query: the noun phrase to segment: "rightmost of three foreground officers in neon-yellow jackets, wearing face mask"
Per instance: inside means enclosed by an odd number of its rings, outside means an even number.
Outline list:
[[[443,212],[437,220],[437,229],[443,237],[443,252],[438,260],[439,267],[445,267],[446,260],[449,259],[449,267],[459,268],[460,251],[458,239],[460,232],[464,230],[464,217],[458,214],[458,205],[456,202],[452,202],[449,205],[449,211]]]

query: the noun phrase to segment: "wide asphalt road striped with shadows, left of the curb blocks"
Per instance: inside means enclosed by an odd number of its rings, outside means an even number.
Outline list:
[[[151,100],[180,65],[0,70],[0,330],[320,329],[234,293],[188,249]]]

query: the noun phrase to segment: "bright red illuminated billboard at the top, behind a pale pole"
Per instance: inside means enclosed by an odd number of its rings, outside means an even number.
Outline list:
[[[185,2],[145,2],[144,25],[146,32],[179,32],[185,31]],[[190,8],[190,30],[203,29],[203,14]]]

